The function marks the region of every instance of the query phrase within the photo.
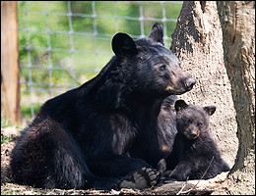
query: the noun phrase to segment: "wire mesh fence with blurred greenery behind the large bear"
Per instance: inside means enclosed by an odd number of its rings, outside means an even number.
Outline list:
[[[148,36],[158,22],[171,43],[182,1],[19,1],[19,54],[23,117],[91,79],[113,56],[111,38]]]

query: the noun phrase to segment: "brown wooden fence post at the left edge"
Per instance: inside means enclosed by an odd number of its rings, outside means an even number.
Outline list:
[[[21,123],[17,2],[1,1],[1,116]]]

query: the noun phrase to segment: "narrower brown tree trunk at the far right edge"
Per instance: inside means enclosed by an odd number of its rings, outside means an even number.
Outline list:
[[[224,66],[236,111],[238,153],[230,178],[255,194],[255,1],[218,1]],[[240,191],[240,183],[235,191]]]

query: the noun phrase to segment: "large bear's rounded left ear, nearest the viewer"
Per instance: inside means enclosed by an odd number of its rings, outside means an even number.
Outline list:
[[[112,50],[117,57],[131,57],[137,54],[133,39],[126,33],[118,32],[112,39]]]

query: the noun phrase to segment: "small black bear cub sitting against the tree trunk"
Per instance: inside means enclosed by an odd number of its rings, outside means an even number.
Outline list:
[[[175,102],[176,127],[172,152],[166,158],[166,168],[173,180],[209,179],[230,170],[209,132],[209,121],[215,106],[187,105],[184,100]],[[160,161],[159,167],[164,166]],[[165,175],[166,175],[165,173]]]

